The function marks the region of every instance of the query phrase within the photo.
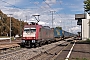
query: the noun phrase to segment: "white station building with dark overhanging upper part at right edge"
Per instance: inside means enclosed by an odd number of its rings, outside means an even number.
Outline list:
[[[81,26],[81,39],[90,38],[90,14],[75,14],[75,20],[78,20],[77,25]]]

